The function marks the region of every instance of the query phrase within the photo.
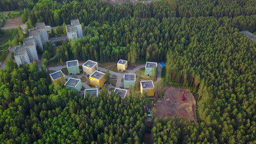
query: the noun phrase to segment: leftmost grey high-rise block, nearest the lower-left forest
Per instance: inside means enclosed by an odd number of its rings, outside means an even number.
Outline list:
[[[15,47],[14,58],[18,65],[30,64],[33,61],[38,61],[36,44],[33,38],[24,39],[24,45]]]

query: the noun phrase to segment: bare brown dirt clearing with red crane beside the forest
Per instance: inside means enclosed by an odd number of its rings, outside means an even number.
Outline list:
[[[185,100],[182,100],[184,88],[165,87],[164,99],[156,103],[156,117],[183,117],[196,122],[196,100],[189,89],[185,89]]]

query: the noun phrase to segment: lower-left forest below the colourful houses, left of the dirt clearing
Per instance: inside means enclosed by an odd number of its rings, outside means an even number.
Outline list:
[[[47,77],[47,78],[45,78]],[[147,100],[103,88],[98,98],[49,85],[33,62],[0,69],[0,143],[141,143]]]

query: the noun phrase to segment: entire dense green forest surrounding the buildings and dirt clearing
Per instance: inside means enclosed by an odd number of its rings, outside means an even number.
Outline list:
[[[137,61],[166,62],[164,81],[194,92],[197,123],[154,118],[155,143],[255,143],[256,43],[240,33],[256,31],[255,7],[253,0],[166,0],[116,7],[92,0],[42,0],[24,10],[22,19],[62,26],[78,18],[89,26],[85,37],[58,47],[61,62],[112,62],[129,59],[131,53]],[[53,47],[46,45],[46,50],[44,56],[51,57]],[[17,68],[8,59],[7,65],[0,70],[1,143],[142,143],[144,97],[131,93],[121,100],[103,87],[98,99],[83,99],[50,85],[36,63]]]

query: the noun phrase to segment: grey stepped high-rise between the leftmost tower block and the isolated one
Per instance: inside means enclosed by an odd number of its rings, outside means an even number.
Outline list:
[[[35,44],[43,51],[43,46],[49,41],[44,22],[36,23],[36,28],[30,29],[28,38],[34,38]]]

